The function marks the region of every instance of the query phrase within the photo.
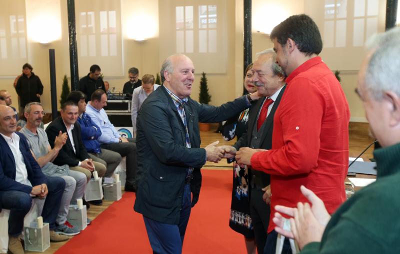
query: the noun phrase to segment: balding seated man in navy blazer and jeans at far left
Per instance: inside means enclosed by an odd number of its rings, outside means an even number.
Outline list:
[[[0,105],[0,211],[9,209],[8,249],[23,253],[18,239],[23,218],[29,212],[32,198],[45,198],[41,216],[49,224],[50,241],[68,240],[54,232],[65,181],[60,177],[45,177],[30,153],[26,138],[16,130],[12,108]]]

